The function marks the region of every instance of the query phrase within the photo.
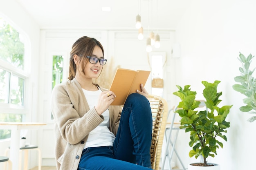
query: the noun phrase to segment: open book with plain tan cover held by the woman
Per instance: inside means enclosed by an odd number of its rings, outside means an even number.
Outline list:
[[[145,85],[149,74],[150,71],[117,68],[110,86],[110,91],[113,91],[117,97],[111,105],[124,105],[128,95],[137,93],[136,90],[141,90],[140,84]]]

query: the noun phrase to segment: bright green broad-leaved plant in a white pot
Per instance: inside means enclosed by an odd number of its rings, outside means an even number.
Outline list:
[[[194,167],[199,170],[200,167],[205,166],[208,169],[213,169],[216,164],[207,163],[207,157],[214,157],[217,155],[217,149],[223,147],[218,138],[227,141],[227,137],[223,133],[227,132],[226,129],[230,126],[230,122],[225,119],[232,105],[218,107],[221,102],[219,97],[222,95],[222,92],[217,92],[219,83],[220,81],[215,81],[214,83],[202,81],[205,86],[203,90],[204,103],[207,107],[206,110],[202,111],[196,110],[200,105],[200,101],[195,100],[197,93],[191,91],[190,85],[184,86],[184,89],[181,86],[177,86],[179,90],[173,93],[181,99],[177,106],[180,109],[175,111],[182,118],[180,120],[180,128],[185,128],[185,132],[190,132],[189,146],[192,147],[192,150],[189,152],[189,157],[203,157],[202,163],[192,163],[189,165],[189,169]],[[217,169],[220,169],[220,167],[218,166]]]

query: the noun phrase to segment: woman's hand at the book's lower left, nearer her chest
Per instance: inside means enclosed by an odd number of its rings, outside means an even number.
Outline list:
[[[98,105],[95,106],[96,112],[101,115],[103,112],[105,112],[110,104],[115,100],[115,93],[112,91],[103,91],[98,100]]]

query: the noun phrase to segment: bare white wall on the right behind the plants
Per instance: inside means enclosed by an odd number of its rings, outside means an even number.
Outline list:
[[[221,170],[255,169],[254,147],[256,122],[249,123],[252,115],[242,113],[245,96],[233,90],[234,77],[239,75],[239,52],[248,56],[256,54],[256,2],[253,0],[194,0],[176,29],[176,41],[181,44],[181,57],[176,60],[176,84],[191,85],[191,90],[202,98],[204,86],[201,81],[220,80],[218,91],[222,91],[220,105],[234,105],[228,116],[231,127],[227,142],[209,162],[219,163]],[[256,58],[252,68],[256,67]],[[175,102],[174,102],[175,101]],[[174,97],[172,104],[177,104]],[[194,162],[189,158],[189,134],[180,131],[177,150],[185,164]]]

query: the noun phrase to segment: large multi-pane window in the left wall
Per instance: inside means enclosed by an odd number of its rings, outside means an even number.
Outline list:
[[[0,121],[21,122],[25,109],[25,45],[22,34],[0,17]],[[0,139],[9,138],[10,130],[0,130]]]

